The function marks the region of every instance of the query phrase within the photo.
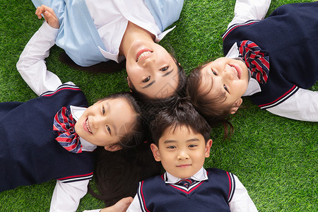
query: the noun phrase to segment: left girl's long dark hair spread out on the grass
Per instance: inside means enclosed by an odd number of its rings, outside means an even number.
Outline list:
[[[153,158],[150,142],[147,141],[148,126],[143,122],[134,94],[114,93],[102,100],[113,98],[125,98],[138,117],[134,130],[121,140],[122,150],[110,152],[103,147],[96,150],[94,179],[98,192],[94,191],[92,183],[88,192],[104,201],[105,206],[112,206],[126,196],[135,196],[138,182],[163,172],[161,163]]]

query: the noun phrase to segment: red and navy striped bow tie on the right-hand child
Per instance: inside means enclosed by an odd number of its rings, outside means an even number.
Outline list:
[[[269,78],[269,53],[250,40],[237,42],[237,45],[239,46],[239,57],[245,61],[252,77],[265,85]]]

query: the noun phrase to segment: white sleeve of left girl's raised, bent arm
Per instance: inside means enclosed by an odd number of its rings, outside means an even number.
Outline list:
[[[49,49],[54,45],[58,31],[48,23],[43,23],[25,46],[16,64],[24,81],[37,95],[61,86],[59,77],[47,71],[44,60],[49,56]]]

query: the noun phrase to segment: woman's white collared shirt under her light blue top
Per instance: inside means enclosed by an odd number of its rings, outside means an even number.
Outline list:
[[[124,56],[119,56],[119,46],[126,31],[128,21],[155,35],[155,42],[159,42],[170,30],[161,32],[151,11],[142,0],[116,0],[100,1],[86,0],[90,16],[98,30],[107,52],[100,48],[105,58],[122,61]],[[105,13],[104,11],[107,11]]]

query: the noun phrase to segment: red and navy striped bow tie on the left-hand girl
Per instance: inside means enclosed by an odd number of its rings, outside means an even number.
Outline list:
[[[75,119],[66,107],[62,107],[54,117],[53,130],[57,131],[56,140],[67,151],[71,153],[81,153],[82,145],[79,140],[78,134],[76,134],[74,126],[76,124]]]

